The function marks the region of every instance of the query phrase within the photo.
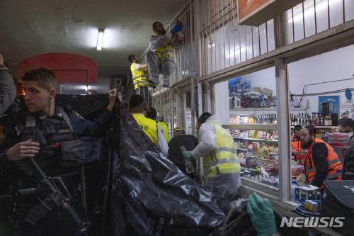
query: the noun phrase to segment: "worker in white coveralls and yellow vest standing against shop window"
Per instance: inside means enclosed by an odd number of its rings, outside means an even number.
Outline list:
[[[222,128],[217,116],[202,113],[198,118],[200,142],[193,151],[184,151],[183,157],[203,157],[204,184],[219,198],[232,201],[241,184],[241,166],[230,133]]]

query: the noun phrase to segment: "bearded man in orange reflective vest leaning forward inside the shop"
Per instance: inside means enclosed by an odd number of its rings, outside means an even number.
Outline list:
[[[342,163],[333,148],[316,137],[316,128],[307,125],[300,131],[302,148],[307,149],[304,163],[306,182],[324,189],[324,180],[341,180]]]

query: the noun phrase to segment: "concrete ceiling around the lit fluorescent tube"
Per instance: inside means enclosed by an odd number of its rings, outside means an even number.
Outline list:
[[[144,52],[152,23],[169,23],[185,0],[0,0],[0,53],[16,70],[26,57],[73,52],[98,63],[98,76],[127,72],[127,56]],[[103,50],[96,50],[105,28]],[[16,71],[13,71],[16,72]]]

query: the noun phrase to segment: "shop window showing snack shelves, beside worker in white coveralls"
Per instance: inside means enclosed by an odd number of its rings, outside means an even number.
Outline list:
[[[228,90],[229,93],[224,93]],[[279,150],[275,68],[215,84],[215,110],[234,138],[243,186],[278,194]],[[225,102],[226,101],[226,102]]]

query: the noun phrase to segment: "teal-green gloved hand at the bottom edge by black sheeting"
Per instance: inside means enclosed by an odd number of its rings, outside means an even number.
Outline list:
[[[273,207],[268,199],[252,193],[247,203],[247,212],[258,236],[269,236],[277,230]]]

